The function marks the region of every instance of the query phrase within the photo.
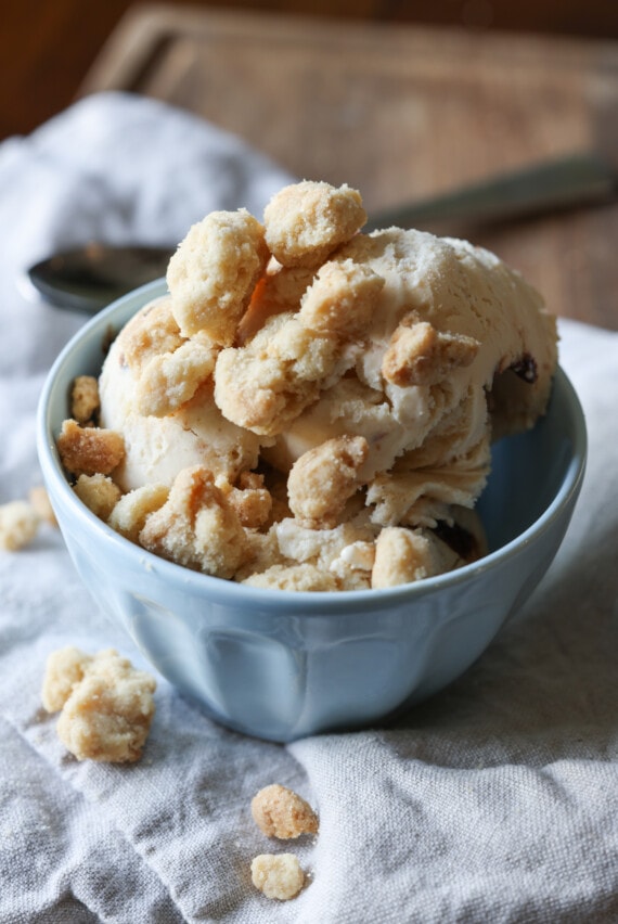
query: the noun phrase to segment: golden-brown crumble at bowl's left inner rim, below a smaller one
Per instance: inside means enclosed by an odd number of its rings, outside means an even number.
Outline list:
[[[56,446],[62,464],[76,476],[108,475],[125,458],[125,440],[119,433],[81,427],[70,419],[63,422]]]

